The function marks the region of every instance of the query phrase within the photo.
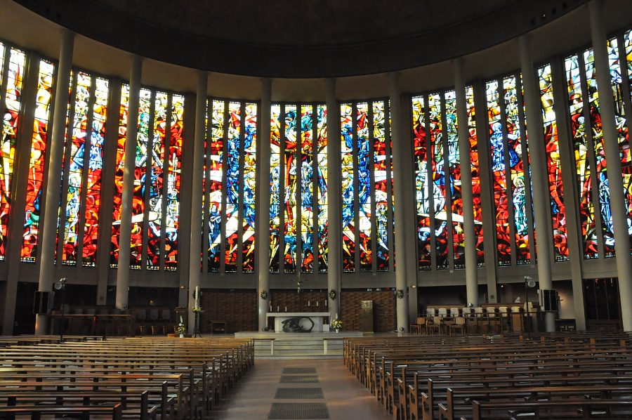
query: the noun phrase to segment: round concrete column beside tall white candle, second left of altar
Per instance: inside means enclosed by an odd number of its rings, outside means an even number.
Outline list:
[[[202,248],[202,178],[204,178],[204,134],[206,133],[206,91],[209,86],[209,74],[199,70],[197,73],[197,91],[195,95],[195,132],[193,139],[193,178],[191,182],[191,229],[189,252],[189,333],[195,328],[193,306],[195,288],[199,287],[200,249]]]

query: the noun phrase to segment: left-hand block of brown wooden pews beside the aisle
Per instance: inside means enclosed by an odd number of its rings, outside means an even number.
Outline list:
[[[0,337],[0,419],[202,419],[254,365],[251,339]]]

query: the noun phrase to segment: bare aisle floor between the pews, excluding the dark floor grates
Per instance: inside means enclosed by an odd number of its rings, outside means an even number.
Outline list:
[[[285,367],[314,367],[317,383],[281,383]],[[322,388],[324,399],[275,400],[277,388]],[[329,419],[386,420],[389,415],[342,360],[256,360],[255,366],[211,413],[213,420],[267,420],[272,403],[325,403]]]

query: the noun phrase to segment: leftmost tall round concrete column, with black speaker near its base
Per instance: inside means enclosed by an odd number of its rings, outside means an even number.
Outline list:
[[[55,282],[55,238],[57,236],[57,209],[59,207],[60,183],[64,152],[64,133],[66,129],[66,107],[68,105],[68,85],[72,67],[72,50],[74,48],[74,32],[62,30],[62,39],[55,81],[55,106],[51,124],[51,153],[48,155],[48,186],[44,202],[44,220],[41,226],[41,258],[39,262],[39,291],[51,291]],[[48,329],[46,315],[37,315],[35,334],[44,335]]]

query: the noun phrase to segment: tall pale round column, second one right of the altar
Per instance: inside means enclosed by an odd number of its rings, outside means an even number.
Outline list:
[[[393,142],[393,183],[395,202],[405,202],[406,196],[403,168],[404,159],[410,156],[410,150],[405,150],[407,144],[402,137],[402,100],[400,92],[400,74],[390,72],[388,74],[388,96],[390,98],[391,139]],[[412,194],[412,191],[408,192]],[[405,268],[406,265],[406,230],[410,228],[404,223],[404,206],[395,206],[395,261],[397,267]],[[395,289],[404,291],[404,298],[397,298],[397,330],[408,332],[408,298],[406,270],[395,271]]]

